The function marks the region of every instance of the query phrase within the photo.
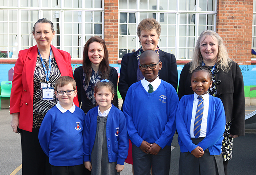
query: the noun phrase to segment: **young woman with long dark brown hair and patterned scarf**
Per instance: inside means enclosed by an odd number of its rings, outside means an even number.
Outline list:
[[[96,106],[94,87],[102,79],[108,79],[114,84],[114,106],[118,107],[117,77],[116,69],[109,66],[108,49],[104,39],[91,37],[84,45],[83,66],[74,71],[79,106],[84,113]]]

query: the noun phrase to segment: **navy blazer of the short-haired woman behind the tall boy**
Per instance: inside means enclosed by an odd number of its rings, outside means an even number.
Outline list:
[[[137,82],[137,52],[127,53],[123,56],[118,83],[118,91],[125,99],[128,88]],[[159,57],[162,62],[162,69],[159,71],[159,78],[173,85],[177,91],[178,71],[174,54],[163,52],[159,49]]]

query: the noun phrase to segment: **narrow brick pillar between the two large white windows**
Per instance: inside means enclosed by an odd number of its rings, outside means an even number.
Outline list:
[[[109,63],[117,64],[118,0],[105,0],[104,13],[104,39],[109,51]]]

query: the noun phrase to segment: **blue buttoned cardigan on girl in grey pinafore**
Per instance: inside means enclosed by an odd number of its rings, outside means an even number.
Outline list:
[[[84,125],[84,161],[91,161],[91,151],[95,142],[97,130],[98,106],[89,110]],[[106,123],[106,137],[109,162],[124,165],[128,155],[128,134],[126,119],[121,110],[112,104]]]

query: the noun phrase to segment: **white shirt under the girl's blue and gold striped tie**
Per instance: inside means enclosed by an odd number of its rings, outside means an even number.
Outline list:
[[[195,124],[195,117],[196,117],[196,108],[198,104],[198,97],[196,93],[194,93],[194,101],[193,101],[193,109],[192,109],[192,118],[191,118],[191,125],[190,125],[190,137],[195,138],[194,136],[194,124]],[[204,104],[204,111],[203,111],[203,118],[201,124],[201,131],[199,137],[206,137],[206,129],[207,129],[207,118],[208,118],[208,110],[209,110],[209,94],[201,95],[203,97],[203,104]]]

